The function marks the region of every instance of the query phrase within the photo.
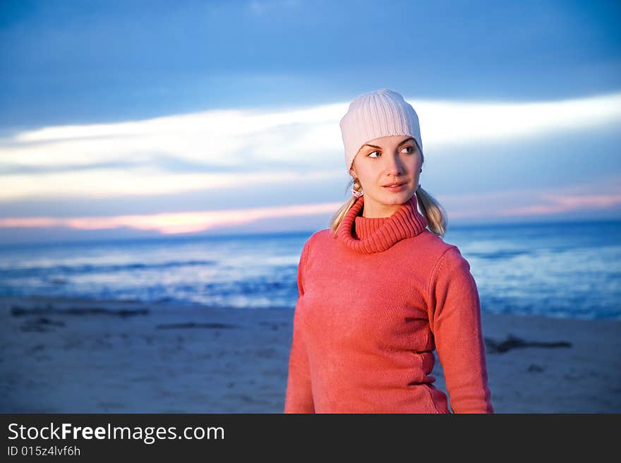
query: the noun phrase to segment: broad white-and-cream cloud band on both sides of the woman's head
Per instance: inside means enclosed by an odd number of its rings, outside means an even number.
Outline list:
[[[421,119],[423,150],[439,156],[447,147],[621,124],[621,93],[550,102],[409,101]],[[0,200],[344,178],[339,120],[348,105],[215,109],[15,133],[0,138]]]

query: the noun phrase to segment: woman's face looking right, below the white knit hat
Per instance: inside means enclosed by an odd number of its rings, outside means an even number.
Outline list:
[[[414,138],[394,135],[370,140],[354,157],[350,174],[364,191],[364,217],[389,217],[416,192],[423,157]],[[390,184],[402,184],[389,188]]]

